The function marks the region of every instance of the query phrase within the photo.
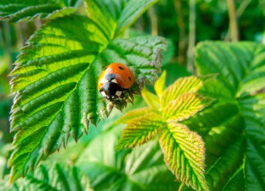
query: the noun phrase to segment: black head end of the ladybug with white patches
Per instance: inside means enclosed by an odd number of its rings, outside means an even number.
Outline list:
[[[101,87],[100,93],[103,95],[104,98],[110,101],[124,97],[123,89],[121,88],[121,86],[119,86],[119,84],[116,84],[114,82],[105,83]]]

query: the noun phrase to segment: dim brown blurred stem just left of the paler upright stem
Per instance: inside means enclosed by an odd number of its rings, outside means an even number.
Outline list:
[[[186,47],[186,35],[185,35],[185,24],[183,17],[183,10],[181,0],[174,0],[174,6],[177,14],[176,23],[179,26],[179,56],[178,62],[185,63],[185,47]]]

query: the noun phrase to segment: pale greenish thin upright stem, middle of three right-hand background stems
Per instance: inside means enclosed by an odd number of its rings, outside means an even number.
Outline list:
[[[190,0],[190,17],[189,17],[189,33],[188,33],[188,70],[195,72],[194,67],[194,49],[196,38],[196,1]]]

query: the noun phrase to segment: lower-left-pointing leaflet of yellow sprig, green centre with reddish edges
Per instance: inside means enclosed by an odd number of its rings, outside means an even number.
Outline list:
[[[150,113],[127,122],[116,149],[132,148],[148,142],[166,125],[160,117],[159,114]]]

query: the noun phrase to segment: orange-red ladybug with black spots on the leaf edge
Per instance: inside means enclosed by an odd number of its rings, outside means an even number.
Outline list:
[[[135,76],[128,66],[122,63],[111,63],[103,69],[98,79],[98,91],[110,101],[124,97],[135,82]]]

